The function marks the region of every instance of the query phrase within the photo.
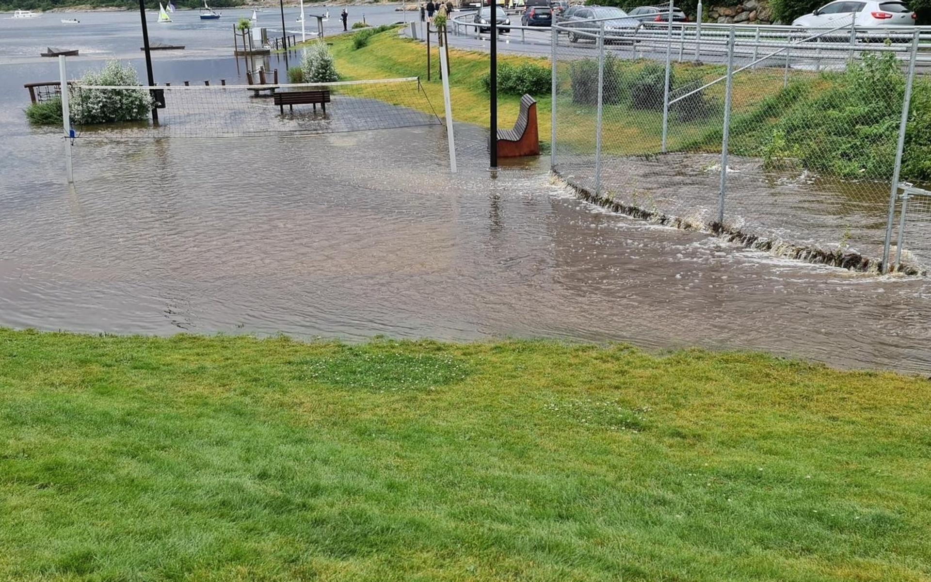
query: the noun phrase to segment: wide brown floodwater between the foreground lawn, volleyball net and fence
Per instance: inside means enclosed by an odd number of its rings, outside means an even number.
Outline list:
[[[174,79],[236,71],[229,58],[156,65]],[[455,176],[444,130],[426,126],[81,139],[69,188],[58,132],[20,113],[42,66],[0,64],[0,325],[617,340],[931,372],[928,279],[606,212],[551,184],[546,159],[492,178],[467,126]]]

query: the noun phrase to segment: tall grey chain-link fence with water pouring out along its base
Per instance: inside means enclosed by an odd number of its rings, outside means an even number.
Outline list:
[[[554,27],[562,179],[618,210],[781,256],[895,268],[893,184],[931,182],[919,29],[730,27],[699,47],[686,27],[618,24]],[[899,254],[915,273],[931,266],[931,209],[912,200]]]

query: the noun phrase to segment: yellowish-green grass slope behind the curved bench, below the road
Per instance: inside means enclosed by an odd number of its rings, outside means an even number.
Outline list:
[[[433,74],[431,81],[426,81],[426,48],[421,43],[398,38],[397,31],[388,31],[374,35],[369,45],[353,49],[351,35],[344,34],[332,37],[333,56],[336,59],[337,69],[346,79],[372,79],[392,78],[404,76],[421,76],[421,82],[433,108],[442,115],[443,97],[442,85],[439,80],[439,49],[432,49]],[[488,119],[488,93],[481,86],[481,76],[488,73],[488,54],[477,51],[452,49],[450,75],[452,94],[452,115],[457,121],[472,123],[480,127],[489,127]],[[540,66],[549,67],[549,59],[533,58],[521,55],[499,54],[499,60],[520,64],[533,62]],[[619,61],[627,78],[638,74],[646,61]],[[568,87],[568,62],[560,66],[560,83],[566,85],[562,89],[563,98],[560,99],[560,144],[572,147],[579,152],[591,152],[595,147],[595,107],[593,105],[580,105],[573,103],[572,92]],[[705,65],[695,66],[689,63],[676,63],[676,74],[689,78],[702,77],[706,81],[718,78],[724,69],[721,66]],[[629,80],[625,82],[626,86]],[[779,70],[760,70],[752,75],[746,74],[735,79],[734,111],[739,116],[752,111],[764,98],[771,97],[782,88],[782,72]],[[549,114],[550,96],[534,95],[538,101],[538,129],[540,141],[549,142]],[[721,147],[721,103],[723,102],[723,87],[719,84],[708,89],[708,98],[714,100],[711,118],[698,119],[689,123],[681,123],[673,115],[669,126],[669,148],[679,149],[682,146],[695,148],[696,142],[701,145],[699,149],[720,151]],[[405,102],[422,111],[429,112],[430,108],[425,102]],[[498,100],[498,120],[502,128],[508,128],[517,118],[519,112],[519,96],[500,95]],[[778,115],[778,111],[772,112]],[[636,111],[627,105],[607,105],[604,109],[604,147],[612,154],[650,154],[660,151],[660,136],[662,133],[662,114],[653,111]],[[716,141],[716,142],[715,142]]]

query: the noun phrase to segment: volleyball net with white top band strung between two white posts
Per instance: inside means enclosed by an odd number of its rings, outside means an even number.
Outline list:
[[[254,137],[441,123],[418,77],[151,88],[73,83],[70,95],[79,138]]]

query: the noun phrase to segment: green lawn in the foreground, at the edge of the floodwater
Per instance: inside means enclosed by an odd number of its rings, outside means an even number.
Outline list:
[[[927,580],[931,384],[0,330],[0,578]]]

